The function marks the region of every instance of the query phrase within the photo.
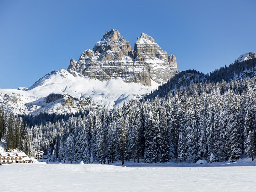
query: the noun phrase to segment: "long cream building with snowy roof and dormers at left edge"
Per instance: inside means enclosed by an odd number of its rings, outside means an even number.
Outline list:
[[[23,152],[0,152],[0,163],[32,163],[32,160]]]

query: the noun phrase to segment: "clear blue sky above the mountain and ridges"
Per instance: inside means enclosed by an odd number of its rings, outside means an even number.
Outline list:
[[[116,28],[152,36],[178,69],[203,73],[256,51],[256,1],[0,1],[0,88],[30,87]]]

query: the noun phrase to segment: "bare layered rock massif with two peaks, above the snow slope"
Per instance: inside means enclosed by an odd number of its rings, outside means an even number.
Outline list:
[[[150,79],[162,84],[179,72],[175,56],[168,56],[152,37],[142,33],[131,50],[116,29],[104,34],[92,50],[85,50],[77,62],[71,59],[68,71],[101,81],[120,77],[146,86]]]

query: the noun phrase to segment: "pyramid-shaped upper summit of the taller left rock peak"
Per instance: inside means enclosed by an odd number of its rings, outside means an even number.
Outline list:
[[[111,29],[103,35],[103,38],[92,49],[92,51],[100,53],[108,50],[121,51],[124,55],[128,55],[128,52],[131,51],[131,45],[116,29]]]

